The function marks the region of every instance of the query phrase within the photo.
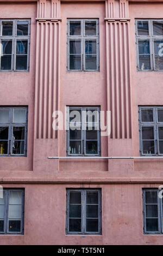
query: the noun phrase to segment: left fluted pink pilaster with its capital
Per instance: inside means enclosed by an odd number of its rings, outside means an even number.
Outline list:
[[[58,110],[60,75],[60,0],[37,1],[35,139],[58,137],[52,114]]]

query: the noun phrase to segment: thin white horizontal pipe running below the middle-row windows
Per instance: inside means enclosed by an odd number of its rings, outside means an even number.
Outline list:
[[[77,158],[77,159],[162,159],[163,157],[48,157],[48,159],[71,159],[71,158]]]

